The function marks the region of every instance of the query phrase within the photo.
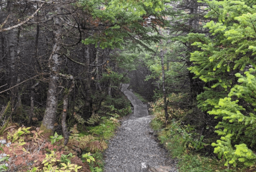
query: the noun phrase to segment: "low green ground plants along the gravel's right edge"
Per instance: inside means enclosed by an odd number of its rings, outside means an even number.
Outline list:
[[[165,126],[157,117],[152,120],[151,126],[159,131],[158,139],[172,157],[178,158],[179,171],[243,171],[222,167],[224,164],[215,157],[204,157],[197,154],[198,150],[207,146],[204,136],[198,135],[193,126],[181,125],[179,121]],[[193,151],[197,150],[197,151]]]

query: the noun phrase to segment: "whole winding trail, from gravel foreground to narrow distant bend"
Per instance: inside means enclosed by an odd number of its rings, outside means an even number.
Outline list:
[[[165,149],[155,141],[149,126],[147,105],[122,84],[121,91],[134,106],[134,114],[122,119],[116,136],[104,153],[104,172],[176,172],[175,160],[168,158]]]

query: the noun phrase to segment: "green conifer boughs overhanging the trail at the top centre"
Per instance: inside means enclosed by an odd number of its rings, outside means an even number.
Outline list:
[[[168,1],[147,0],[147,1],[87,1],[80,0],[78,6],[92,14],[94,19],[98,19],[95,25],[99,23],[107,24],[103,31],[94,34],[83,40],[84,44],[93,44],[104,48],[119,48],[125,42],[125,38],[130,38],[137,44],[144,45],[141,40],[148,41],[159,39],[159,36],[147,34],[155,29],[156,25],[163,26],[167,24],[167,20],[161,16],[165,15],[164,7]],[[148,16],[154,23],[151,26],[145,27],[144,19]],[[144,16],[144,18],[143,18]],[[135,35],[140,35],[140,40],[133,38]]]

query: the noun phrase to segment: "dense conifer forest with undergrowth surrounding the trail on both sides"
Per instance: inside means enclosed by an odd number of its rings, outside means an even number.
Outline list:
[[[254,0],[0,0],[0,170],[102,171],[130,82],[174,157],[255,171],[255,27]]]

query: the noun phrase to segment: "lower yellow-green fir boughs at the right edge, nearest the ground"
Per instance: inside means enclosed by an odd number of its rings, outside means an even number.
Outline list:
[[[234,85],[230,90],[228,97],[220,99],[215,109],[209,111],[216,117],[221,117],[222,121],[216,126],[216,133],[221,135],[221,140],[212,143],[215,146],[215,153],[219,157],[226,159],[225,165],[232,164],[236,166],[239,162],[250,166],[256,162],[256,155],[248,148],[254,147],[255,121],[254,115],[256,99],[255,95],[255,69],[249,69],[245,76],[237,73],[241,84]],[[246,105],[239,105],[239,102],[246,102]],[[244,103],[243,103],[244,104]],[[239,143],[233,146],[234,143]]]

